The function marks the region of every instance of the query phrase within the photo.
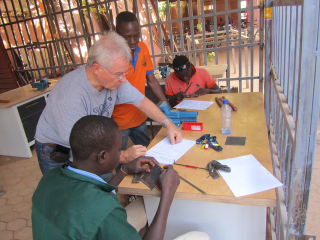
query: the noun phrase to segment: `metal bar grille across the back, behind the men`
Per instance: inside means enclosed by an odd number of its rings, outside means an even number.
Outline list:
[[[115,16],[124,10],[137,15],[155,69],[187,54],[195,65],[227,63],[219,81],[228,90],[235,84],[242,91],[245,81],[247,90],[256,85],[262,91],[259,0],[2,0],[0,34],[19,84],[56,78],[84,64],[90,45],[115,28]],[[224,26],[217,25],[220,17]]]

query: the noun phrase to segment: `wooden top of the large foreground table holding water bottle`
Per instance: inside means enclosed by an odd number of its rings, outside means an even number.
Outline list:
[[[221,133],[220,107],[217,103],[213,103],[206,110],[198,110],[197,122],[203,122],[203,130],[183,131],[183,138],[196,140],[201,135],[209,133],[211,136],[216,136],[217,142],[220,143],[223,150],[219,152],[212,148],[204,150],[195,144],[177,160],[177,163],[206,167],[207,163],[211,160],[221,160],[252,154],[269,172],[273,173],[262,93],[241,92],[206,94],[198,98],[194,98],[194,100],[214,101],[214,97],[220,97],[222,95],[228,98],[229,101],[238,108],[237,111],[232,112],[232,133],[229,135]],[[245,145],[224,145],[227,136],[245,136]],[[166,130],[165,128],[161,128],[149,144],[148,148],[155,145],[164,137],[166,137]],[[207,193],[202,194],[184,181],[180,180],[180,184],[175,192],[174,198],[257,206],[275,206],[276,204],[275,189],[235,197],[221,176],[217,179],[212,179],[211,177],[207,177],[207,170],[194,169],[180,165],[173,165],[173,167],[179,175],[186,178],[188,181]],[[122,180],[118,185],[118,191],[120,193],[160,196],[160,189],[158,187],[150,190],[142,182],[133,184],[132,178],[133,174],[130,174]]]

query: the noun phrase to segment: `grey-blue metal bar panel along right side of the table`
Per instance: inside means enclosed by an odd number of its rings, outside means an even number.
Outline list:
[[[284,184],[270,209],[272,239],[315,239],[304,230],[320,105],[319,1],[266,0],[265,7],[265,115]]]

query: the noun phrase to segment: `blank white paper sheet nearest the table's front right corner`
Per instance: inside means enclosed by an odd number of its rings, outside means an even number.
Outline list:
[[[278,181],[253,155],[219,160],[231,168],[231,172],[219,170],[234,196],[244,196],[281,186]]]

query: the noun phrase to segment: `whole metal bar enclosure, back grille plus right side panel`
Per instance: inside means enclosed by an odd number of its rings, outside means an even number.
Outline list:
[[[232,84],[242,91],[242,83],[264,90],[274,172],[284,183],[270,209],[272,238],[303,239],[319,113],[319,1],[2,0],[0,34],[18,83],[84,64],[90,45],[124,10],[137,15],[155,69],[188,54],[195,65],[227,63],[219,80],[228,91]]]

